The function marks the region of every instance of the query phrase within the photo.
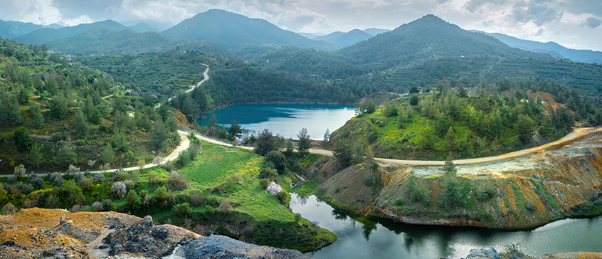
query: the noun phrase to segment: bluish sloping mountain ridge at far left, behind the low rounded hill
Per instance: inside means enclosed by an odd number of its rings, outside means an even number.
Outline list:
[[[36,31],[32,31],[26,35],[14,38],[16,41],[21,41],[26,44],[41,45],[42,43],[49,43],[51,41],[60,40],[61,38],[68,38],[75,36],[78,33],[90,31],[98,28],[108,28],[114,30],[123,30],[127,27],[123,26],[117,21],[106,20],[98,21],[95,23],[83,23],[78,26],[63,27],[63,28],[41,28]]]

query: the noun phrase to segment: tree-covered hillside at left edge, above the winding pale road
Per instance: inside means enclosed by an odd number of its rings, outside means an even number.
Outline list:
[[[0,41],[1,170],[133,166],[179,143],[168,107],[45,46]]]

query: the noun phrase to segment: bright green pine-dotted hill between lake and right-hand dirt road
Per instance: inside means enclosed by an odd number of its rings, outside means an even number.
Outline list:
[[[475,88],[440,81],[433,90],[414,87],[388,99],[377,107],[366,98],[357,117],[330,137],[335,152],[348,160],[364,151],[396,159],[484,157],[564,137],[576,120],[602,125],[601,109],[551,80],[502,79]]]

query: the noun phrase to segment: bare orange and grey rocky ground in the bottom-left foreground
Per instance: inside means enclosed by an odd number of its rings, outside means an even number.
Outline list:
[[[305,258],[296,250],[200,236],[152,218],[28,208],[0,216],[0,258]]]

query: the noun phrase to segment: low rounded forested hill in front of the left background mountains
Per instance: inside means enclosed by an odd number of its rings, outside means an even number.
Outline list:
[[[182,50],[202,51],[213,56],[229,56],[231,53],[208,41],[176,40],[159,33],[137,33],[130,29],[95,29],[69,38],[48,43],[53,51],[72,55],[120,55],[154,51],[167,51],[180,47]]]

